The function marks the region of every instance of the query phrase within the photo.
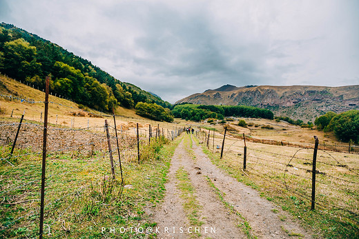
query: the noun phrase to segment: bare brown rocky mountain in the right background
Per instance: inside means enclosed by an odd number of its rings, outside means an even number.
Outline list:
[[[176,102],[201,105],[249,105],[272,110],[276,116],[313,121],[333,111],[359,110],[359,85],[341,87],[292,85],[223,85]]]

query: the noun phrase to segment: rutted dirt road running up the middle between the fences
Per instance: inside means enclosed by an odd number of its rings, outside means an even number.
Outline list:
[[[166,196],[153,216],[158,238],[311,238],[289,214],[213,165],[193,138],[186,134],[175,149]]]

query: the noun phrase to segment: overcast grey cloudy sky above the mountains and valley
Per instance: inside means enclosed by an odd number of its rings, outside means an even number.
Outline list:
[[[0,21],[171,103],[224,84],[359,84],[356,0],[0,0]]]

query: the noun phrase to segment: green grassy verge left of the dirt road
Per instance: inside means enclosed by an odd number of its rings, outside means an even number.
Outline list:
[[[164,197],[173,143],[142,148],[142,163],[123,163],[126,187],[110,177],[108,154],[74,157],[72,152],[49,154],[46,163],[44,238],[148,238],[153,227],[146,209]],[[30,149],[26,149],[30,152]],[[0,147],[0,158],[10,147]],[[14,155],[26,152],[15,152]],[[39,233],[41,157],[29,154],[13,165],[1,162],[0,238],[34,238]],[[139,229],[144,229],[141,231]]]

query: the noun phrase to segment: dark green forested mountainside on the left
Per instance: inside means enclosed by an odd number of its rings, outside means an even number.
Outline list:
[[[39,89],[50,75],[52,94],[101,111],[110,112],[117,105],[133,108],[138,102],[172,106],[115,79],[81,56],[8,23],[0,24],[0,72]]]

